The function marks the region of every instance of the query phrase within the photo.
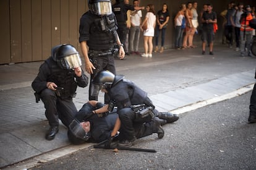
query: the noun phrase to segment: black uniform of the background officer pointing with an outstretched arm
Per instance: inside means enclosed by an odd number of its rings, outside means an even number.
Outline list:
[[[134,6],[129,4],[124,4],[124,2],[116,2],[116,4],[112,6],[112,9],[113,9],[112,11],[114,12],[114,15],[116,15],[116,20],[118,23],[117,33],[119,35],[121,43],[125,44],[126,35],[128,31],[127,25],[126,25],[127,11],[128,10],[134,11],[135,10]]]

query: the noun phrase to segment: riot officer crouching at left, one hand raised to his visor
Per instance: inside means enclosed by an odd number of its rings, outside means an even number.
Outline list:
[[[74,46],[55,46],[32,82],[36,102],[41,99],[45,104],[45,116],[50,125],[47,140],[53,140],[59,132],[59,119],[69,127],[77,114],[72,98],[77,86],[88,85],[88,77],[83,73],[81,65],[79,53]]]

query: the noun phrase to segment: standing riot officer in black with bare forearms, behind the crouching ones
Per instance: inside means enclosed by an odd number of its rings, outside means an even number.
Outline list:
[[[116,32],[117,22],[112,12],[111,2],[88,0],[88,7],[89,11],[80,18],[79,42],[85,57],[85,70],[91,75],[89,100],[98,100],[98,96],[92,96],[90,93],[93,77],[100,70],[109,70],[116,74],[113,53],[119,48],[120,59],[125,53]]]

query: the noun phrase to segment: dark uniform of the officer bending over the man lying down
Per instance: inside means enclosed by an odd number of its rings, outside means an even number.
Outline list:
[[[135,129],[140,129],[140,137],[150,135],[154,132],[156,125],[152,121],[152,117],[147,116],[141,118],[130,108],[132,105],[145,104],[154,108],[153,113],[155,116],[158,116],[158,111],[145,91],[137,87],[133,82],[116,75],[111,88],[108,89],[108,96],[117,106],[117,114],[121,120],[120,138],[132,140],[138,136]],[[145,122],[147,124],[144,124]]]

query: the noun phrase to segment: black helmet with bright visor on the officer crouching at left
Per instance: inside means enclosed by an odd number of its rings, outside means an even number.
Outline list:
[[[74,69],[82,66],[79,52],[72,45],[58,45],[51,50],[53,60],[57,62],[61,69]]]

